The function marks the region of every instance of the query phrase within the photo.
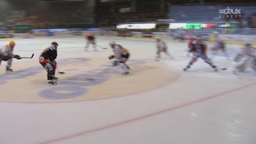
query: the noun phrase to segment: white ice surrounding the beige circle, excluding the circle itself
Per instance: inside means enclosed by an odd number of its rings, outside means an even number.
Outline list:
[[[156,48],[152,39],[99,37],[97,43],[108,47],[111,40],[130,50],[131,59],[154,61]],[[79,37],[17,39],[14,53],[35,53],[36,59],[52,41],[59,44],[58,58],[108,57],[112,53],[100,48],[98,52],[92,48],[84,52],[85,40]],[[187,43],[165,41],[175,59],[162,54],[159,62],[176,69],[178,78],[174,82],[104,100],[0,102],[0,144],[255,144],[254,73],[232,74],[234,63],[222,56],[214,58],[214,62],[228,70],[214,72],[198,60],[183,72],[190,60],[186,57]],[[0,41],[1,46],[7,43],[6,39]],[[240,46],[228,47],[236,51]],[[14,63],[22,64],[18,60]],[[5,64],[2,62],[1,72]]]

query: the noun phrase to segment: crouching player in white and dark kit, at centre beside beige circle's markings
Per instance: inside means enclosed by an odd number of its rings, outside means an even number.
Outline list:
[[[129,74],[130,68],[127,66],[126,61],[128,60],[130,54],[127,49],[123,48],[119,44],[115,42],[110,42],[110,47],[113,49],[114,55],[110,55],[108,59],[115,58],[116,60],[113,62],[113,66],[119,65],[123,70],[122,74]]]

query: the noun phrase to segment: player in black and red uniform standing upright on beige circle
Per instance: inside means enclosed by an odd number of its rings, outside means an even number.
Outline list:
[[[46,48],[39,57],[39,63],[44,67],[44,69],[47,71],[47,80],[48,84],[57,84],[56,81],[58,78],[55,76],[55,70],[57,66],[57,62],[55,59],[57,58],[57,42],[52,42],[51,46]]]

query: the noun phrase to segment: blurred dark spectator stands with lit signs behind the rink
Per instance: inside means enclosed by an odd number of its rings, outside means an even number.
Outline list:
[[[226,9],[226,10],[225,10]],[[221,12],[221,10],[224,10]],[[152,28],[117,28],[155,24]],[[130,27],[129,27],[130,26]],[[0,33],[46,29],[256,34],[255,0],[1,0]],[[126,34],[129,35],[129,34]]]

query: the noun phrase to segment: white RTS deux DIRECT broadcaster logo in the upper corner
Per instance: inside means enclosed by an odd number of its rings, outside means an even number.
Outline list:
[[[231,9],[231,8],[226,8],[224,10],[219,10],[219,18],[241,18],[241,9]]]

